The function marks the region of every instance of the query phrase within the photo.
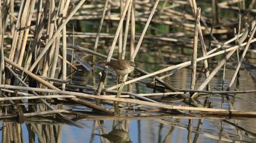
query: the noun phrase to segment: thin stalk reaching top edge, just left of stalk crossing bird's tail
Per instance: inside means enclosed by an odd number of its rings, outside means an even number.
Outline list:
[[[98,28],[98,32],[97,32],[97,35],[96,35],[96,39],[95,39],[95,42],[94,42],[94,48],[93,48],[93,51],[94,51],[94,52],[97,52],[97,47],[98,47],[98,42],[99,42],[99,36],[100,36],[100,34],[101,34],[101,28],[102,28],[102,25],[103,25],[103,22],[104,22],[105,13],[106,13],[106,11],[107,11],[108,1],[109,1],[109,0],[106,0],[106,1],[105,1],[104,10],[103,10],[102,16],[101,16],[101,21],[99,22],[99,28]],[[95,62],[95,56],[94,56],[94,55],[93,55],[92,58],[91,58],[91,62]]]

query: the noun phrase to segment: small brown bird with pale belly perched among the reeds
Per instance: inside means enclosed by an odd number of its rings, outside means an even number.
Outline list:
[[[110,60],[109,62],[98,62],[100,65],[107,65],[116,72],[117,75],[126,75],[134,70],[135,63],[129,60]]]

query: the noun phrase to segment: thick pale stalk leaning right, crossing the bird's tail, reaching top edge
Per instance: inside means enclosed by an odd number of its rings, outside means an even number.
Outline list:
[[[123,10],[123,12],[122,12],[120,21],[119,21],[119,23],[118,23],[118,28],[116,29],[115,38],[113,39],[113,42],[112,42],[110,51],[108,52],[107,62],[109,62],[110,59],[112,58],[112,55],[113,55],[113,52],[114,52],[114,48],[115,48],[115,45],[116,45],[116,41],[117,41],[117,39],[118,39],[119,32],[120,32],[120,30],[121,30],[121,26],[123,25],[124,17],[126,16],[126,12],[127,12],[127,10],[128,10],[129,3],[130,3],[130,0],[127,0],[127,1],[126,1],[126,4],[124,5],[124,10]],[[106,75],[107,75],[107,68],[108,68],[107,65],[105,65],[104,71],[103,71],[103,73],[102,73],[101,81],[99,82],[97,95],[100,95],[100,94],[101,94],[102,88],[103,88],[103,86],[104,86],[104,83],[103,83],[103,82],[104,82],[105,77],[106,77]]]

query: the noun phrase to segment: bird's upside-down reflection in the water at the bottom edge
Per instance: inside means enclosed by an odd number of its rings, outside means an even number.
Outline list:
[[[130,141],[130,136],[127,133],[127,131],[125,131],[123,129],[115,129],[114,128],[112,131],[110,131],[107,134],[103,134],[103,135],[95,134],[95,135],[107,138],[110,142],[114,142],[114,143],[132,142],[132,141]]]

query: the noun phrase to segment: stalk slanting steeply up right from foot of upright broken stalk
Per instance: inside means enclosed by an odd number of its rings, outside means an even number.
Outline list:
[[[249,45],[250,45],[250,43],[251,43],[251,41],[252,41],[252,38],[254,37],[255,29],[256,29],[256,26],[254,27],[254,30],[253,30],[252,33],[251,33],[251,36],[250,36],[250,38],[249,38],[249,40],[248,40],[248,42],[247,42],[247,44],[246,44],[246,48],[249,47]],[[240,46],[240,45],[239,45],[239,46]],[[239,46],[238,46],[238,47],[239,47]],[[245,49],[246,49],[246,48],[245,48]],[[213,76],[215,76],[215,74],[219,71],[219,69],[222,67],[222,65],[225,64],[225,62],[227,61],[227,59],[229,59],[230,56],[232,56],[232,54],[233,54],[234,52],[235,52],[235,49],[232,50],[232,51],[230,51],[230,52],[225,56],[225,58],[222,59],[222,61],[218,63],[218,65],[215,67],[215,69],[212,71],[212,73],[208,76],[207,79],[205,79],[205,81],[200,85],[200,87],[197,88],[197,90],[203,90],[203,89],[204,89],[204,87],[206,86],[206,84],[208,84],[208,82],[210,82],[210,80],[213,78]],[[197,96],[198,96],[198,93],[194,93],[191,98],[196,98]]]

